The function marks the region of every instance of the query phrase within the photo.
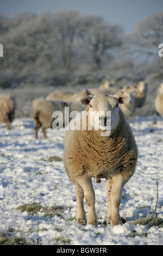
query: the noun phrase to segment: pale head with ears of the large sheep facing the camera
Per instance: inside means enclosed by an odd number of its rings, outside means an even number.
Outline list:
[[[88,105],[86,111],[89,111],[94,128],[97,130],[115,129],[119,123],[119,104],[126,103],[128,96],[126,95],[89,95],[82,97],[80,102]],[[91,115],[92,114],[92,115]]]

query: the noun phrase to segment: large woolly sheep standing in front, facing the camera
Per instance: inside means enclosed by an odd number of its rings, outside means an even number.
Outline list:
[[[66,127],[64,166],[68,178],[76,188],[76,219],[79,224],[86,224],[83,204],[85,197],[87,224],[97,226],[95,191],[91,178],[96,178],[98,183],[101,178],[105,179],[107,223],[111,222],[112,226],[121,224],[119,206],[122,188],[134,174],[138,154],[133,132],[119,107],[119,104],[126,103],[127,100],[125,95],[82,97],[80,102],[86,106],[85,112],[76,115]],[[111,112],[111,127],[106,121],[110,113],[108,111]],[[89,129],[93,113],[92,129]],[[95,129],[99,121],[101,125],[99,129]],[[71,129],[73,123],[76,123],[76,129]]]

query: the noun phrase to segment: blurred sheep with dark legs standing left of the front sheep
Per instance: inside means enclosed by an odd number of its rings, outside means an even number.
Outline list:
[[[44,99],[33,100],[33,119],[35,123],[35,138],[37,139],[37,132],[42,126],[43,137],[46,139],[46,129],[52,128],[54,118],[52,118],[54,111],[61,111],[63,116],[65,114],[65,107],[68,107],[65,102],[62,101],[51,101]],[[64,118],[60,121],[64,126]]]

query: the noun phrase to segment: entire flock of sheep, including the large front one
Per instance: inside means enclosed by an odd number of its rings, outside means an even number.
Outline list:
[[[64,166],[68,178],[76,188],[77,214],[80,224],[97,225],[95,211],[95,191],[92,179],[97,183],[105,179],[106,197],[108,199],[107,223],[112,226],[121,224],[119,207],[122,188],[135,172],[137,162],[137,145],[127,120],[137,107],[142,107],[147,97],[147,83],[139,82],[136,87],[126,86],[115,92],[109,83],[99,89],[84,90],[78,94],[54,92],[46,99],[33,101],[33,119],[35,138],[42,126],[44,138],[46,129],[52,127],[52,114],[65,107],[78,111],[68,124],[76,121],[76,129],[66,129],[64,143]],[[163,83],[159,84],[155,99],[156,112],[163,116]],[[15,99],[10,95],[0,96],[0,120],[7,123],[14,118]],[[82,110],[85,109],[84,114]],[[106,123],[107,113],[111,112],[111,123]],[[91,113],[96,113],[91,130],[89,120]],[[96,130],[100,121],[101,129]],[[81,129],[85,125],[86,129]],[[65,124],[66,125],[66,124]],[[110,125],[109,135],[102,136],[102,131]],[[84,197],[87,204],[87,221],[84,210]]]

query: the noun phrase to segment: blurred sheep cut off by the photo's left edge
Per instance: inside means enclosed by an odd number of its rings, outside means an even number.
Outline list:
[[[7,123],[7,129],[11,129],[11,122],[14,120],[16,100],[8,94],[0,95],[0,122]]]

